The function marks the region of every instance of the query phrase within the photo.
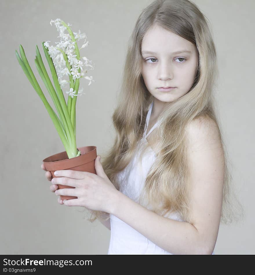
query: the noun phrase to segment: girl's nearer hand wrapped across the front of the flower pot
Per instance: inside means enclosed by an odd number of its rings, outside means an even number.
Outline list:
[[[54,184],[63,184],[75,188],[63,188],[56,195],[76,196],[77,199],[64,200],[66,206],[83,206],[96,211],[111,213],[119,191],[103,170],[100,156],[95,160],[96,174],[76,170],[59,170]]]

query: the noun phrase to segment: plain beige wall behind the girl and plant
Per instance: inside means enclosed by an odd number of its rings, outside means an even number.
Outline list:
[[[244,221],[220,225],[215,254],[254,254],[254,8],[252,0],[196,0],[210,19],[220,77],[216,100],[233,180]],[[81,50],[95,63],[95,82],[81,80],[77,100],[77,146],[97,146],[104,155],[114,137],[111,116],[119,91],[127,42],[136,19],[151,1],[2,0],[1,21],[1,254],[107,254],[110,231],[90,223],[82,207],[57,203],[41,170],[45,157],[64,151],[43,102],[23,73],[15,49],[34,64],[35,45],[55,45],[61,18],[85,32]],[[43,59],[46,62],[46,59]],[[48,64],[47,64],[48,66]],[[48,67],[47,67],[48,68]],[[67,87],[67,86],[66,86]]]

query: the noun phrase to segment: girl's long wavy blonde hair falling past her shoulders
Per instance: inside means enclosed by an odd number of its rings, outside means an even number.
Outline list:
[[[181,219],[190,222],[188,199],[187,140],[185,127],[196,118],[211,119],[217,125],[225,157],[223,204],[221,222],[238,221],[243,208],[233,192],[231,173],[227,165],[227,151],[215,111],[213,91],[218,77],[216,49],[209,21],[198,7],[187,0],[156,0],[140,14],[128,43],[121,92],[112,121],[116,130],[115,141],[109,153],[102,156],[102,166],[117,190],[116,175],[122,171],[137,150],[143,136],[146,114],[153,96],[147,90],[141,70],[141,43],[146,31],[153,25],[181,36],[196,46],[199,60],[197,73],[190,91],[171,103],[160,114],[158,121],[159,144],[156,160],[145,180],[142,197],[157,214],[178,212]],[[149,144],[144,147],[148,148]],[[89,221],[105,220],[108,213],[92,211]]]

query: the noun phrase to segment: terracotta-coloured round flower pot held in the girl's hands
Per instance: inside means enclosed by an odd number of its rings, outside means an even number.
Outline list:
[[[96,146],[85,146],[78,148],[81,151],[79,157],[68,158],[66,151],[46,157],[43,162],[47,171],[50,171],[52,178],[56,177],[54,172],[57,170],[76,170],[96,174],[95,159],[97,157]],[[58,189],[75,188],[58,184]],[[60,196],[61,199],[77,199],[74,196]]]

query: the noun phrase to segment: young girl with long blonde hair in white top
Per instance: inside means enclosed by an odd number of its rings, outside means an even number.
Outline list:
[[[113,114],[112,149],[102,164],[96,158],[96,175],[62,170],[51,186],[76,187],[56,194],[78,199],[58,201],[91,210],[89,220],[111,230],[108,254],[214,254],[220,221],[238,213],[227,207],[216,76],[212,35],[194,3],[156,0],[142,11]]]

